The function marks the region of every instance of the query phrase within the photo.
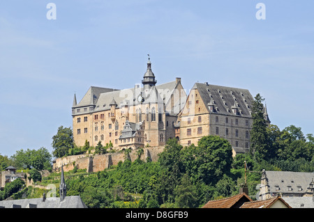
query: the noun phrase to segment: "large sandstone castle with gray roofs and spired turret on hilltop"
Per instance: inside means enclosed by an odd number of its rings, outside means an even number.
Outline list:
[[[76,145],[112,143],[114,150],[160,147],[169,138],[190,145],[218,135],[233,154],[248,152],[253,97],[246,89],[195,83],[189,94],[181,78],[156,84],[147,62],[142,86],[117,90],[91,86],[77,103],[74,95],[73,138]],[[264,118],[269,121],[267,109]]]

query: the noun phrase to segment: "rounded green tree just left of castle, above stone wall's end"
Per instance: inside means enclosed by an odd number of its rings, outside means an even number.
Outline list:
[[[54,157],[63,157],[73,148],[73,132],[70,127],[59,127],[56,135],[52,136],[52,154]]]

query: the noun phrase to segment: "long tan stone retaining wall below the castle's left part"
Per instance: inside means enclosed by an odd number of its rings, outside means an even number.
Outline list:
[[[141,159],[146,161],[147,157],[151,161],[158,160],[158,154],[163,152],[164,146],[143,148],[144,154]],[[137,159],[137,150],[132,150],[129,154],[131,161]],[[88,173],[103,171],[112,165],[117,165],[119,161],[124,161],[124,152],[112,152],[106,154],[80,154],[68,157],[58,158],[53,163],[53,171],[59,171],[63,164],[63,171],[71,171],[76,166],[77,169],[86,169]]]

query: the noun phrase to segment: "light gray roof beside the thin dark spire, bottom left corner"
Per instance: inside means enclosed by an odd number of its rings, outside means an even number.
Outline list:
[[[66,196],[64,200],[60,198],[33,198],[33,199],[20,199],[20,200],[2,200],[0,201],[0,207],[5,208],[87,208],[83,203],[80,196]]]

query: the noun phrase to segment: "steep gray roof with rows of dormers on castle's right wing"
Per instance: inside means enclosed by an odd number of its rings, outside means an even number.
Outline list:
[[[248,90],[207,83],[196,83],[194,88],[197,88],[206,106],[214,105],[216,113],[232,115],[232,108],[237,108],[239,116],[251,117],[254,99]],[[209,111],[208,106],[207,109]]]

